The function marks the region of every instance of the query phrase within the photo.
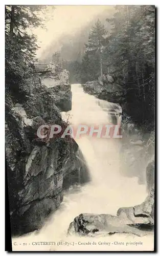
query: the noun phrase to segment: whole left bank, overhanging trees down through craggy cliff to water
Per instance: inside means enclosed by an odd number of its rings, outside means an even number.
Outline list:
[[[6,165],[12,235],[39,229],[63,200],[68,186],[88,181],[77,143],[68,138],[40,139],[41,124],[68,125],[61,111],[72,108],[68,73],[60,73],[59,91],[35,74],[37,42],[29,28],[41,25],[41,6],[6,6]],[[54,83],[54,78],[52,79]],[[67,101],[66,101],[67,100]],[[60,104],[61,103],[61,104]],[[79,159],[81,155],[81,159]],[[85,175],[84,175],[85,174]]]

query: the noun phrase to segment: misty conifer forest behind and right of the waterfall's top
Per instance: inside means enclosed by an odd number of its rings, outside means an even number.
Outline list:
[[[155,7],[116,6],[105,23],[97,19],[88,33],[81,60],[53,61],[70,71],[72,83],[111,75],[123,88],[123,111],[143,130],[154,130]]]

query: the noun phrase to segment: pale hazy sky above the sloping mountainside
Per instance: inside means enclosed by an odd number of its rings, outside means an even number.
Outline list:
[[[45,29],[35,29],[33,32],[38,36],[37,57],[42,51],[56,41],[63,33],[74,33],[77,29],[85,26],[95,15],[104,10],[112,11],[112,6],[55,6],[55,10],[48,7],[48,21]]]

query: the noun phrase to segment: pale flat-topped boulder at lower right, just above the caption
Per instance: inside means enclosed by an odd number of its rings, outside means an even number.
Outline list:
[[[67,234],[79,236],[108,236],[114,233],[133,233],[142,237],[154,228],[154,189],[146,200],[134,207],[120,208],[117,216],[80,214],[70,224]]]

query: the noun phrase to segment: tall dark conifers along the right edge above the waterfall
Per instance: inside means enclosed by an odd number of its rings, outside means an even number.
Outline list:
[[[124,88],[123,110],[136,123],[154,127],[154,6],[118,6],[104,61]]]

